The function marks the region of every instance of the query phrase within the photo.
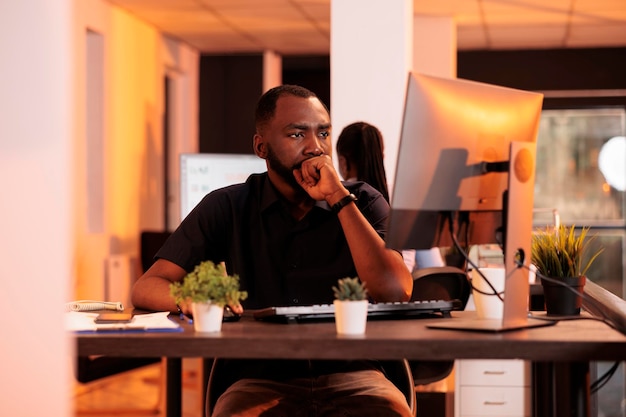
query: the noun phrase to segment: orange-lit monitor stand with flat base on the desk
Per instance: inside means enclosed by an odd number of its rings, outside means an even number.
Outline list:
[[[528,317],[530,284],[528,268],[516,264],[518,253],[524,264],[530,264],[530,242],[533,227],[533,192],[535,186],[534,142],[511,142],[509,150],[508,192],[503,202],[504,236],[504,312],[502,319],[451,318],[438,320],[427,327],[484,332],[504,332],[543,327],[554,324],[549,320]]]

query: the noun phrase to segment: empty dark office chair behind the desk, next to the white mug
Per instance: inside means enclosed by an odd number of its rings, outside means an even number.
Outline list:
[[[467,274],[454,266],[437,266],[413,271],[411,301],[459,300],[464,310],[471,293]],[[409,361],[416,385],[440,381],[450,375],[454,361]]]

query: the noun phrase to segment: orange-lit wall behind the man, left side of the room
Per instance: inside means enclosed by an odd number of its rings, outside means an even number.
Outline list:
[[[87,31],[103,38],[102,107],[102,188],[104,198],[91,204],[84,155],[93,146],[86,134],[85,102],[87,71]],[[163,181],[164,78],[170,86],[170,212],[178,220],[178,154],[197,151],[198,53],[179,41],[168,39],[156,28],[104,0],[76,2],[74,26],[76,48],[76,151],[75,218],[77,249],[72,299],[112,299],[126,301],[105,291],[106,280],[123,280],[129,287],[139,271],[139,237],[142,230],[165,227]],[[88,65],[89,63],[89,65]],[[101,230],[88,227],[87,214],[100,212]],[[107,260],[131,262],[105,270]],[[128,271],[128,272],[124,272]],[[118,285],[118,287],[120,287]],[[124,294],[122,294],[123,296]]]

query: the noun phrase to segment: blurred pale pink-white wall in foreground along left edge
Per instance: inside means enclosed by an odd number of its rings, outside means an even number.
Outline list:
[[[69,416],[72,0],[0,2],[0,416]]]

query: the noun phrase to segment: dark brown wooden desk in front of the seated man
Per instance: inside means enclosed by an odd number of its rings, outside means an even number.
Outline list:
[[[453,316],[472,314],[454,312]],[[441,319],[369,321],[364,336],[341,337],[332,322],[276,324],[244,318],[240,322],[224,323],[222,332],[217,334],[195,333],[191,326],[183,324],[185,331],[182,333],[79,335],[77,353],[81,356],[167,357],[167,415],[170,417],[180,415],[180,358],[183,357],[525,359],[543,364],[541,372],[549,373],[545,365],[567,365],[575,372],[573,379],[577,380],[567,387],[572,396],[588,393],[589,361],[626,360],[626,336],[597,321],[566,321],[555,326],[492,334],[428,329],[426,324],[431,320]],[[580,377],[585,376],[587,378],[580,381]],[[554,404],[548,402],[552,399],[542,392],[538,394],[535,402],[541,404],[535,405],[535,415],[551,415]],[[585,404],[576,404],[576,408],[585,407]],[[576,413],[588,415],[584,409]]]

